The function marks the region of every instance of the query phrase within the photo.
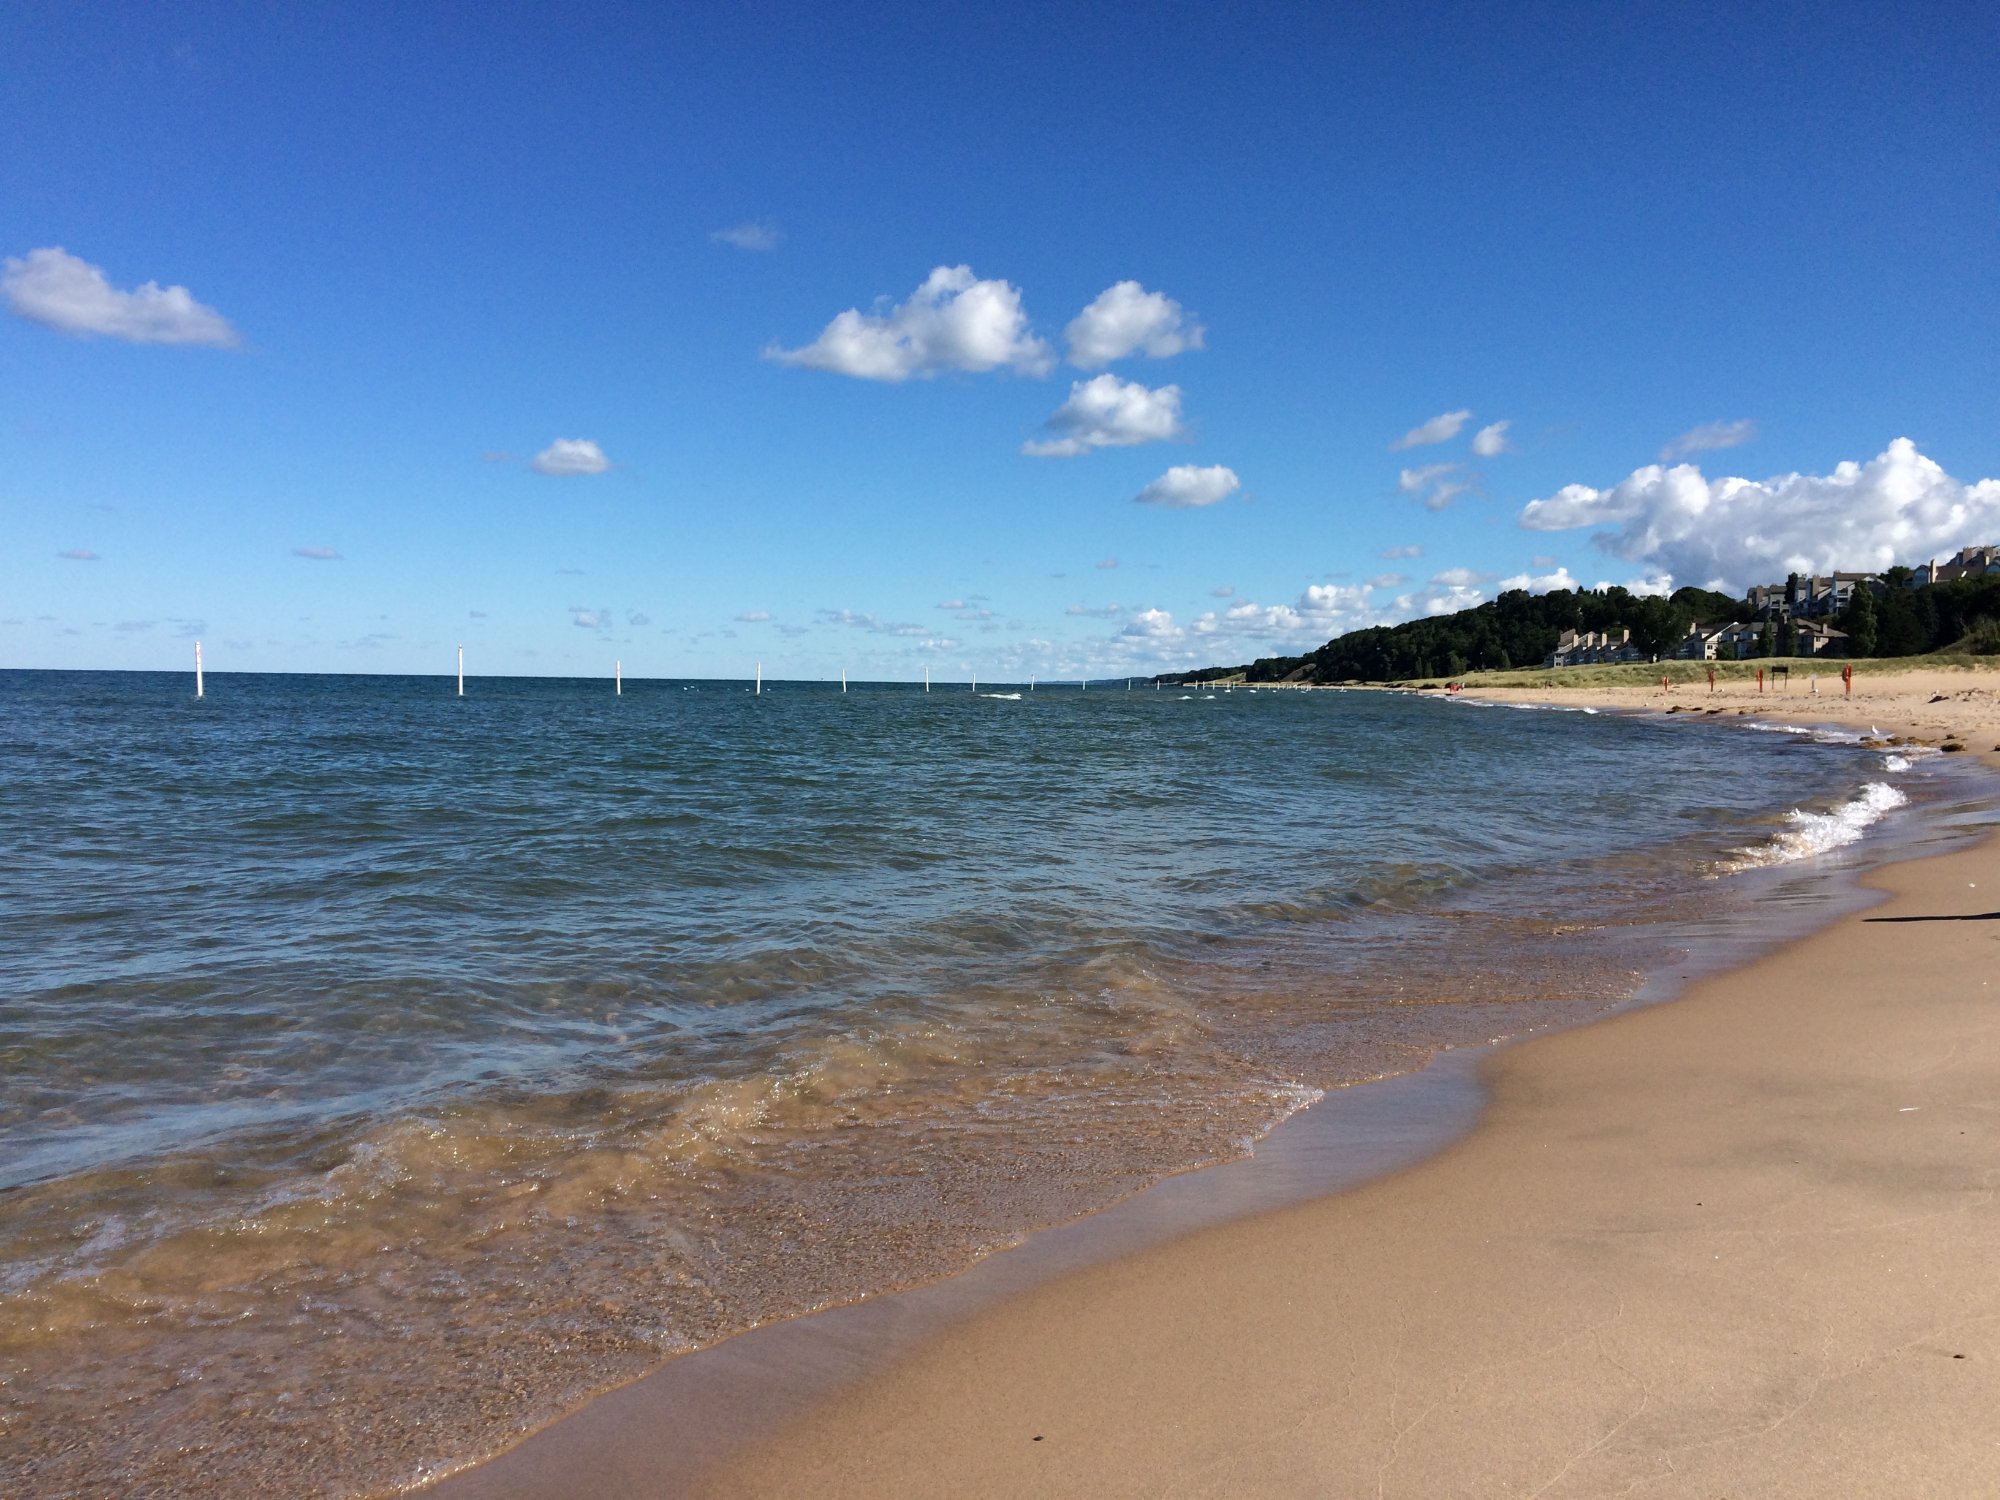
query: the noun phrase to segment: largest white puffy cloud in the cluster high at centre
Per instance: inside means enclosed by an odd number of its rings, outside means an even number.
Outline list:
[[[886,302],[886,300],[884,300]],[[1048,374],[1056,356],[1028,326],[1020,292],[970,266],[938,266],[900,306],[848,308],[804,348],[764,358],[860,380],[900,382],[944,370]]]

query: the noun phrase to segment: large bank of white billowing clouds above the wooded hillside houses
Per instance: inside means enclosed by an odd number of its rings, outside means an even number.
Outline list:
[[[1770,480],[1648,464],[1608,490],[1568,484],[1530,500],[1534,532],[1600,528],[1600,550],[1652,578],[1748,588],[1788,572],[1876,570],[2000,540],[2000,478],[1956,480],[1896,438],[1866,464]]]

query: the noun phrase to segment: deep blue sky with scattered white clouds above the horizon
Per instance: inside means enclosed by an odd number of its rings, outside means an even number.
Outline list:
[[[8,8],[0,664],[1118,674],[2000,540],[1990,8],[652,10]]]

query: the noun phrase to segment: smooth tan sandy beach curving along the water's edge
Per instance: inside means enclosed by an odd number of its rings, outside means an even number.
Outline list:
[[[2000,734],[1984,676],[1820,686],[1520,696]],[[2000,840],[1868,884],[1672,1004],[1494,1054],[1438,1156],[990,1308],[702,1492],[2000,1494]],[[634,1410],[634,1440],[674,1422]],[[688,1478],[506,1476],[468,1492]]]

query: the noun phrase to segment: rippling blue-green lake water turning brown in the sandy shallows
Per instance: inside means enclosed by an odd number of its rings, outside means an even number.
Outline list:
[[[1934,774],[1362,692],[0,674],[0,1492],[394,1490],[1596,1014]]]

